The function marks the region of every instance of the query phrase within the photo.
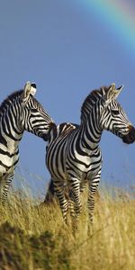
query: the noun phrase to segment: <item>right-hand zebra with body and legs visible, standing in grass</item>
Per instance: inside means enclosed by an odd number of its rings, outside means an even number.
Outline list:
[[[99,142],[103,130],[110,130],[126,144],[135,140],[135,129],[116,101],[121,88],[115,88],[115,84],[112,84],[92,91],[82,105],[79,126],[74,129],[71,127],[58,136],[54,136],[56,127],[50,131],[46,164],[64,220],[67,220],[70,205],[64,184],[67,183],[71,191],[70,201],[74,204],[77,217],[82,207],[80,185],[85,186],[85,182],[88,182],[89,218],[93,221],[94,195],[101,178],[102,154]]]

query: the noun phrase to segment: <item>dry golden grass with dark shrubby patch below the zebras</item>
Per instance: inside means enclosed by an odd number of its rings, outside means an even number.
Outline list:
[[[90,226],[86,196],[77,229],[58,203],[38,206],[13,193],[0,207],[0,270],[135,269],[135,200],[123,193],[98,198]]]

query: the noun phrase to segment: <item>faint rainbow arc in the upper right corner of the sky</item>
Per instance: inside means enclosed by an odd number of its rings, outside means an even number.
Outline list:
[[[135,58],[135,9],[127,0],[77,0],[85,14],[105,24],[121,46]],[[134,5],[135,7],[135,5]]]

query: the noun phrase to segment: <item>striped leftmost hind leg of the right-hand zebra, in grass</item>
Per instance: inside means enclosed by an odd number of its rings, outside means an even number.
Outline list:
[[[65,196],[65,188],[63,183],[61,181],[53,180],[54,184],[54,192],[58,196],[58,202],[60,204],[60,208],[62,211],[63,219],[67,221],[67,208],[68,208],[68,203],[67,203],[67,198]]]

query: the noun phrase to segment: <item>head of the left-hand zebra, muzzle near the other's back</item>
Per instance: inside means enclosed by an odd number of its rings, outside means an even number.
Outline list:
[[[36,85],[27,82],[21,95],[23,105],[22,126],[24,130],[47,140],[53,121],[41,104],[34,98],[35,93]]]

